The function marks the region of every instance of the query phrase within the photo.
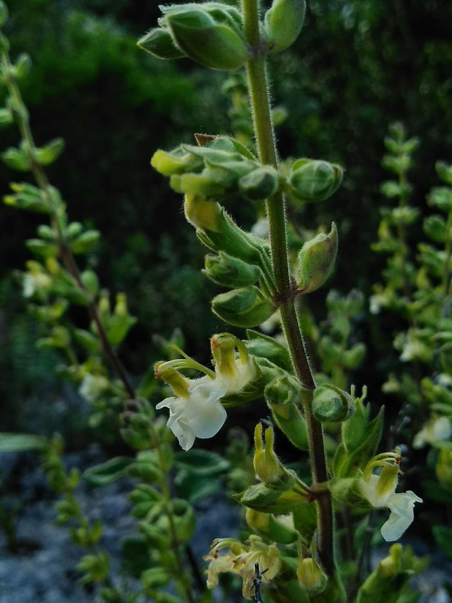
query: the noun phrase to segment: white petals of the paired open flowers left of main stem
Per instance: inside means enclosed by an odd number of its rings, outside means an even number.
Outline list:
[[[219,400],[227,388],[209,376],[193,379],[187,397],[171,397],[155,408],[169,408],[166,425],[171,429],[183,450],[189,450],[195,438],[212,438],[222,428],[227,414]]]

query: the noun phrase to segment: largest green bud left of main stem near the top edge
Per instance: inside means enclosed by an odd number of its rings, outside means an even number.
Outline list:
[[[229,24],[216,23],[201,7],[165,17],[178,48],[211,69],[229,71],[245,65],[249,52],[243,37]]]

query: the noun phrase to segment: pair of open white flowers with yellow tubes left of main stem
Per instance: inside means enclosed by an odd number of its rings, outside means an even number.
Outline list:
[[[239,359],[234,355],[235,346],[239,348]],[[215,372],[183,352],[184,358],[155,365],[155,377],[165,380],[175,394],[159,402],[155,408],[169,409],[166,425],[184,450],[193,446],[195,438],[212,438],[219,432],[227,417],[221,398],[242,390],[256,374],[245,346],[232,335],[213,336],[212,352]],[[189,379],[179,372],[181,369],[198,370],[204,376]]]

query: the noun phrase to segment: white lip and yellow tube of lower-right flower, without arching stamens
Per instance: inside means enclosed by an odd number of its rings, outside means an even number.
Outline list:
[[[361,494],[369,501],[372,507],[388,507],[391,510],[388,521],[381,527],[381,535],[387,542],[398,540],[414,519],[414,504],[422,502],[419,496],[408,490],[395,493],[397,487],[397,471],[391,470],[392,466],[383,467],[380,475],[370,475],[369,479],[361,478],[358,487]]]

